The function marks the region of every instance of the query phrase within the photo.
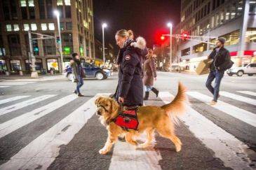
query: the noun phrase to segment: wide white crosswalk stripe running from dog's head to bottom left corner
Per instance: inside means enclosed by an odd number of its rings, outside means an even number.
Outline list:
[[[59,155],[60,146],[67,145],[95,113],[97,95],[22,148],[11,160],[1,164],[0,169],[36,169],[39,165],[40,169],[47,169]]]

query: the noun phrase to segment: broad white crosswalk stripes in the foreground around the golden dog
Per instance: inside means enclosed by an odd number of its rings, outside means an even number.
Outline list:
[[[233,92],[220,92],[222,97],[226,97],[226,100],[233,100],[236,102],[242,101],[244,104],[248,104],[250,107],[255,108],[255,92],[250,91],[237,91]],[[243,96],[245,94],[245,96]],[[0,120],[2,116],[8,117],[8,115],[17,114],[13,118],[6,118],[5,122],[0,123],[0,169],[48,169],[51,165],[55,164],[56,159],[60,156],[61,146],[69,146],[72,140],[77,138],[77,135],[81,134],[81,129],[85,127],[88,120],[95,119],[96,108],[94,101],[98,96],[109,96],[109,94],[95,94],[94,97],[88,97],[81,101],[81,98],[76,97],[74,94],[44,94],[35,97],[33,94],[0,97]],[[196,99],[201,104],[216,109],[221,113],[231,116],[231,119],[241,121],[245,125],[250,125],[252,128],[256,127],[256,109],[255,112],[246,111],[244,108],[239,108],[231,103],[218,101],[217,105],[210,106],[210,100],[212,97],[202,92],[190,91],[187,92],[190,99]],[[167,104],[173,100],[174,94],[170,92],[160,92],[159,106]],[[224,99],[224,98],[221,98]],[[47,101],[47,102],[46,102]],[[70,111],[67,109],[70,105],[78,102],[78,106]],[[147,102],[146,102],[147,105]],[[29,110],[26,110],[27,107]],[[254,153],[250,150],[248,143],[245,143],[243,139],[238,139],[236,134],[232,134],[227,131],[225,127],[216,125],[215,122],[209,120],[204,113],[197,111],[193,108],[193,103],[189,106],[187,113],[180,118],[180,123],[184,124],[192,136],[190,138],[196,138],[203,143],[204,148],[211,150],[213,157],[220,159],[224,167],[230,167],[232,169],[251,169],[253,168],[253,162],[250,159],[248,153]],[[53,116],[55,111],[61,111],[66,115],[55,122],[54,125],[46,127],[46,130],[40,132],[39,135],[30,137],[29,142],[22,146],[17,152],[8,153],[7,147],[16,147],[14,141],[15,132],[22,129],[29,128],[37,120],[46,116]],[[67,113],[66,113],[67,112]],[[204,111],[207,112],[207,111]],[[217,118],[216,118],[217,119]],[[229,121],[229,120],[225,120]],[[232,120],[230,120],[232,121]],[[100,124],[100,122],[97,122]],[[40,127],[41,125],[36,125]],[[36,129],[35,129],[36,130]],[[247,130],[247,129],[244,129]],[[255,133],[255,129],[251,129],[252,133]],[[178,131],[178,129],[177,129]],[[102,130],[102,133],[107,133],[106,130]],[[24,138],[26,137],[25,134]],[[179,136],[179,133],[177,133]],[[256,134],[255,134],[256,135]],[[93,138],[95,134],[87,136],[88,139]],[[145,136],[142,135],[140,141],[143,141]],[[6,141],[10,140],[10,141]],[[106,139],[107,140],[107,139]],[[156,149],[154,145],[161,145],[156,139],[152,143],[152,147],[146,150],[136,150],[134,146],[128,143],[118,141],[113,148],[109,159],[108,169],[166,169],[159,163],[166,155],[161,155],[160,150]],[[251,143],[255,145],[255,143]],[[104,143],[100,143],[104,146]],[[171,143],[170,143],[171,145]],[[193,143],[191,143],[193,145]],[[250,145],[250,143],[249,143]],[[182,146],[182,152],[189,150],[190,146]],[[81,148],[83,150],[83,148]],[[102,159],[102,156],[97,152],[98,150],[91,149],[93,159]],[[174,151],[170,151],[173,152]],[[173,155],[179,155],[180,153],[174,153]],[[187,157],[193,157],[193,155],[179,155],[180,159],[186,159]],[[67,159],[67,158],[65,158]],[[84,167],[86,167],[86,160],[83,160]],[[103,160],[102,160],[103,161]],[[199,161],[199,160],[198,160]],[[63,160],[67,162],[67,160]],[[170,164],[179,164],[179,160],[173,160]],[[89,166],[89,165],[88,165]],[[195,164],[196,166],[196,164]],[[196,169],[196,167],[195,167]]]

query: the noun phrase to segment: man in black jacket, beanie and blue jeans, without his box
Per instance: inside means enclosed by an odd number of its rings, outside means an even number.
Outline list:
[[[210,105],[217,104],[217,99],[220,97],[220,82],[223,78],[224,71],[229,69],[231,64],[231,59],[229,51],[224,48],[225,38],[218,38],[217,47],[213,49],[213,52],[210,53],[208,59],[213,59],[212,64],[210,65],[210,73],[206,81],[206,87],[213,94],[213,101],[210,102]],[[215,79],[215,86],[212,86],[212,82]]]

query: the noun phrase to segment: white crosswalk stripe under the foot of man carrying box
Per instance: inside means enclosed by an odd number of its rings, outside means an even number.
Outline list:
[[[208,97],[207,95],[201,94],[200,92],[187,92],[187,94],[208,105],[210,105],[210,101],[212,100],[212,97]],[[227,113],[228,115],[231,115],[238,120],[241,120],[245,123],[248,123],[249,125],[256,127],[256,114],[254,113],[245,111],[241,108],[232,106],[231,104],[227,104],[220,100],[218,100],[217,104],[213,105],[212,107],[217,108],[218,110]]]

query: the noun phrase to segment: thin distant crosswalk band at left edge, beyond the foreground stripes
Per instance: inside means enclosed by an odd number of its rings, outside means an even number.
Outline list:
[[[6,88],[6,87],[13,86],[13,85],[27,85],[27,84],[32,84],[32,83],[39,83],[39,82],[43,82],[46,80],[55,80],[55,79],[59,79],[59,78],[63,78],[63,76],[49,76],[49,77],[43,76],[38,79],[32,79],[32,78],[18,78],[18,79],[14,79],[14,80],[0,79],[0,88]]]

